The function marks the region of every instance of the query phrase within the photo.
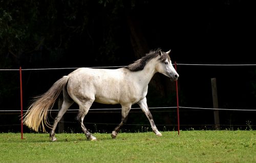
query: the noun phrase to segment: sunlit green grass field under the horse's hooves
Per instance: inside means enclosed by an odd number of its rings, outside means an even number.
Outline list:
[[[181,131],[94,133],[87,141],[81,133],[0,134],[0,162],[256,162],[256,131]]]

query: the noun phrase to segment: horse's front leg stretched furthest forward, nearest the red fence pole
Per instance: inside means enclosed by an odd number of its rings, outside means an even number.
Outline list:
[[[161,132],[158,131],[158,129],[155,125],[155,122],[153,120],[153,117],[152,117],[152,114],[151,114],[150,110],[148,110],[147,103],[146,103],[146,98],[142,99],[137,104],[139,104],[140,108],[145,113],[147,119],[150,121],[153,132],[155,132],[155,134],[157,136],[162,136]]]

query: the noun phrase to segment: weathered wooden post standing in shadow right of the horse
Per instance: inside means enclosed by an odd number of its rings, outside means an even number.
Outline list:
[[[218,105],[218,94],[217,94],[217,83],[216,78],[211,78],[211,90],[212,90],[212,102],[214,104],[214,123],[216,130],[220,129],[220,117],[219,117],[219,105]]]

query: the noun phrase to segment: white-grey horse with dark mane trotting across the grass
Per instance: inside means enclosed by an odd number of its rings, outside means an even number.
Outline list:
[[[47,125],[52,128],[51,141],[56,141],[57,124],[75,102],[79,105],[77,120],[86,137],[94,141],[96,137],[83,124],[83,119],[92,103],[121,104],[122,121],[111,134],[112,138],[115,138],[120,127],[127,121],[131,106],[137,103],[150,121],[153,132],[161,136],[148,110],[146,95],[148,83],[155,73],[161,73],[171,80],[178,79],[179,75],[172,65],[169,53],[170,51],[161,52],[160,49],[151,51],[133,64],[118,69],[78,68],[56,81],[45,94],[35,99],[25,114],[24,124],[35,131],[42,127],[44,132],[46,131],[44,124]],[[47,121],[47,113],[52,109],[61,91],[63,92],[62,107],[51,126]]]

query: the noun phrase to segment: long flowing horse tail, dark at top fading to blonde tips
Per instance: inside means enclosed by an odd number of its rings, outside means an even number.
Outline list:
[[[63,76],[61,79],[57,80],[45,94],[35,97],[34,102],[29,106],[28,111],[24,115],[25,118],[23,122],[26,126],[35,131],[38,131],[38,129],[42,127],[43,132],[46,132],[45,125],[52,128],[48,122],[47,113],[49,109],[52,109],[61,90],[68,83],[68,80],[68,76]]]

